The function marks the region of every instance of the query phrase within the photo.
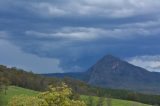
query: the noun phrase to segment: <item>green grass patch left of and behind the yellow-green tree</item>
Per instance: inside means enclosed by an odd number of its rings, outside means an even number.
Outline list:
[[[2,92],[2,102],[4,106],[7,106],[8,102],[11,100],[12,97],[17,95],[28,95],[28,96],[34,96],[38,94],[37,91],[21,88],[21,87],[15,87],[10,86],[7,90],[7,94],[5,95],[4,92]],[[0,105],[1,106],[1,105]]]

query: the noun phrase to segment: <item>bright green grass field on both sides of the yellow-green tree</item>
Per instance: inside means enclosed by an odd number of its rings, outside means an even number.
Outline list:
[[[2,99],[4,102],[3,106],[7,106],[7,103],[9,102],[9,100],[12,97],[14,97],[15,95],[23,95],[23,94],[28,95],[28,96],[34,96],[34,95],[37,95],[38,92],[33,91],[33,90],[24,89],[21,87],[10,86],[8,88],[7,95],[4,95],[4,93],[2,94],[2,96],[3,96]],[[81,100],[87,102],[88,96],[82,95]],[[94,100],[94,104],[96,106],[96,103],[98,101],[98,97],[93,97],[93,100]],[[150,105],[145,105],[145,104],[141,104],[141,103],[137,103],[137,102],[119,100],[119,99],[111,99],[111,104],[112,104],[112,106],[150,106]],[[2,105],[0,105],[0,106],[2,106]],[[106,102],[105,102],[105,106],[107,106]]]

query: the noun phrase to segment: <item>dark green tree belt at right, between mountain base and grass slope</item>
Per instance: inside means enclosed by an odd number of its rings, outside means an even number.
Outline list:
[[[116,99],[137,101],[145,104],[160,105],[160,95],[143,94],[127,90],[107,89],[98,87],[90,87],[90,92],[95,92],[95,94],[99,97],[110,97]]]

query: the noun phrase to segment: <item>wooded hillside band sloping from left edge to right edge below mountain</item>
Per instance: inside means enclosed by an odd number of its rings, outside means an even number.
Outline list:
[[[158,95],[141,94],[127,90],[93,87],[82,81],[72,78],[49,78],[17,68],[7,68],[6,66],[2,65],[0,66],[0,82],[2,85],[5,85],[6,90],[7,86],[15,85],[36,91],[46,91],[49,85],[57,86],[64,82],[70,88],[72,88],[74,94],[73,98],[75,99],[79,98],[79,95],[91,95],[160,105],[160,96]]]

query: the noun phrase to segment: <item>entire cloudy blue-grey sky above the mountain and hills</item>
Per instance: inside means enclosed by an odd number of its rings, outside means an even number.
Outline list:
[[[80,72],[107,54],[160,72],[160,0],[0,0],[0,64]]]

